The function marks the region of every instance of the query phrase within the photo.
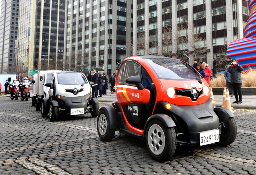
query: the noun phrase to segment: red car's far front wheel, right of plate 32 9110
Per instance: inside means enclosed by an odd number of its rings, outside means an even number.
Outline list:
[[[217,145],[227,146],[234,142],[236,138],[237,128],[234,117],[227,120],[226,126],[221,126],[220,141],[216,142]]]

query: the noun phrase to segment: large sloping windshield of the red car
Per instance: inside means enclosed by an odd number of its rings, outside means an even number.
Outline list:
[[[173,58],[147,58],[147,63],[154,69],[160,79],[196,79],[200,80],[199,73],[189,64]]]

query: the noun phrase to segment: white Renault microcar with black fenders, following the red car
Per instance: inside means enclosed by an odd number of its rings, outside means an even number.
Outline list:
[[[99,101],[92,98],[92,88],[87,78],[81,72],[54,72],[51,83],[46,83],[49,89],[49,99],[43,98],[42,116],[49,112],[50,121],[56,121],[61,115],[84,115],[90,112],[97,117]]]

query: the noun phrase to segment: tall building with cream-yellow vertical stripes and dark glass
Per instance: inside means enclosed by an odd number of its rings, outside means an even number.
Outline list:
[[[62,70],[65,0],[20,1],[17,73]]]

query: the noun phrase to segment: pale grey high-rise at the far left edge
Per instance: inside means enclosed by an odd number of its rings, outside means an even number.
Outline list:
[[[15,73],[19,0],[1,1],[0,74]]]

